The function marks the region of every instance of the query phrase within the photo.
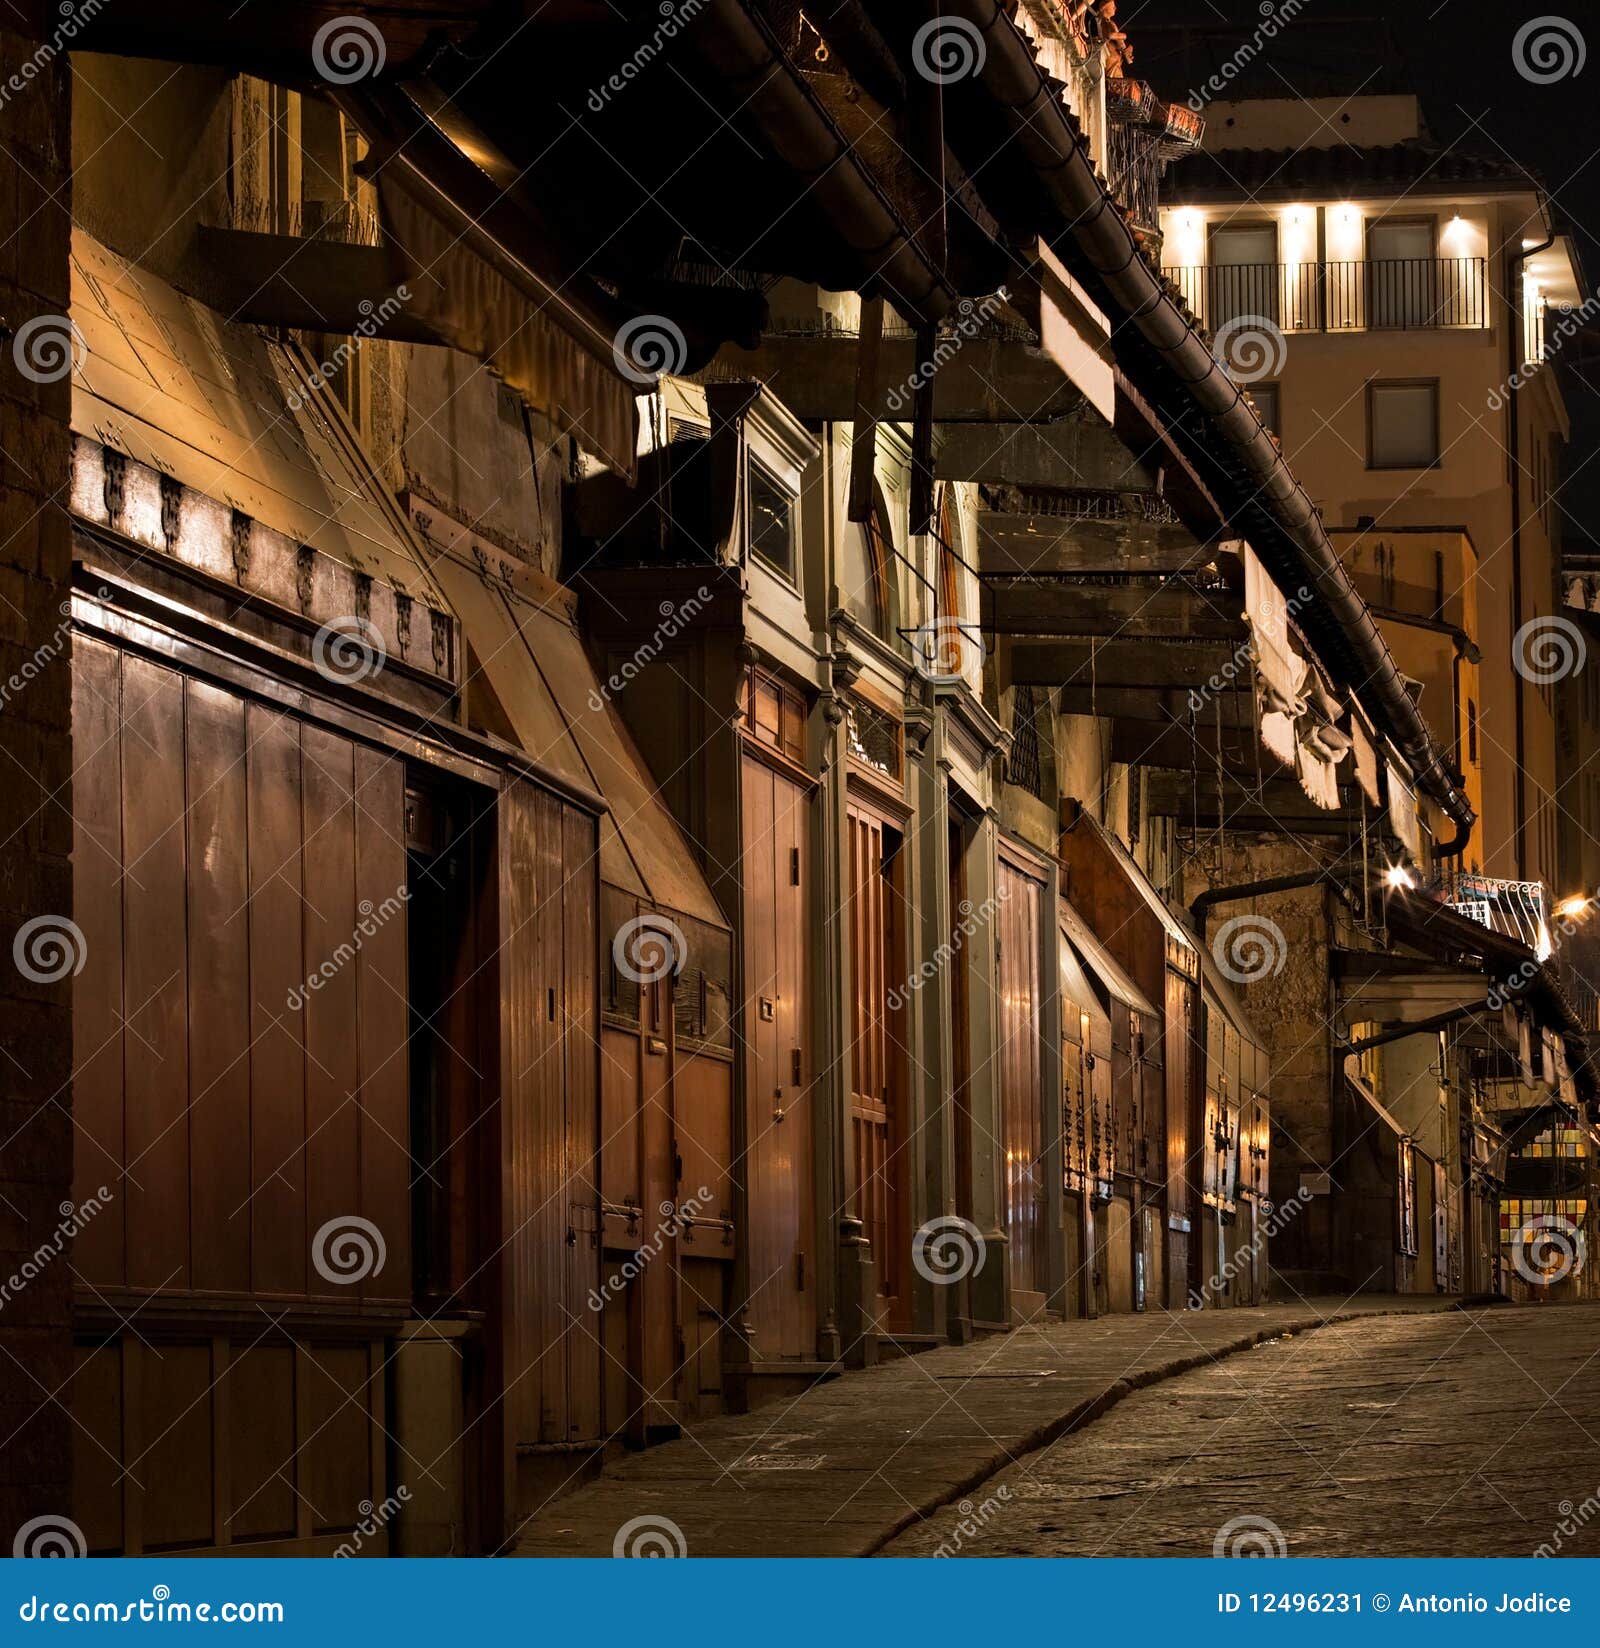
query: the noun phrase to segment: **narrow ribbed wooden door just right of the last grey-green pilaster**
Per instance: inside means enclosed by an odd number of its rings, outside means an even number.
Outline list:
[[[1046,1285],[1043,1104],[1040,1089],[1040,895],[1032,875],[1002,860],[1000,1152],[1005,1234],[1015,1294]]]

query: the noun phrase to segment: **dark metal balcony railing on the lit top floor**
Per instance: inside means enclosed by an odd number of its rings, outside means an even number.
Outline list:
[[[1465,331],[1490,323],[1481,257],[1193,264],[1162,272],[1211,331],[1246,315],[1285,333]]]

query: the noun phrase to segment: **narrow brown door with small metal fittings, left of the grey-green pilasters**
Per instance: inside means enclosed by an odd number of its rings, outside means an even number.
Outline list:
[[[802,784],[743,761],[745,1196],[758,1356],[816,1355],[816,1211]]]

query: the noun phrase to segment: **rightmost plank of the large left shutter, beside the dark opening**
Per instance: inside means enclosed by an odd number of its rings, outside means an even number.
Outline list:
[[[410,1142],[407,1070],[405,770],[356,748],[356,957],[361,1018],[361,1211],[382,1233],[389,1259],[361,1284],[364,1300],[410,1297]],[[465,890],[463,890],[465,897]]]

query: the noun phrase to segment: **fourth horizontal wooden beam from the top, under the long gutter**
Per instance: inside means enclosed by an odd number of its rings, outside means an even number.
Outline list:
[[[982,628],[995,634],[1120,636],[1144,641],[1233,641],[1246,626],[1228,595],[1162,583],[1073,583],[990,578],[980,585]]]

